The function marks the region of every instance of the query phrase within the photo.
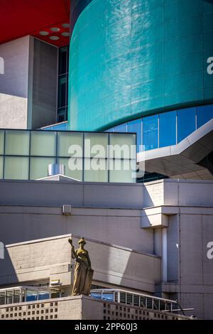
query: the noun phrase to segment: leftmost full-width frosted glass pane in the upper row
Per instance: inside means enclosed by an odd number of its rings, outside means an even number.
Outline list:
[[[5,154],[9,156],[28,156],[29,147],[29,131],[6,131]]]

